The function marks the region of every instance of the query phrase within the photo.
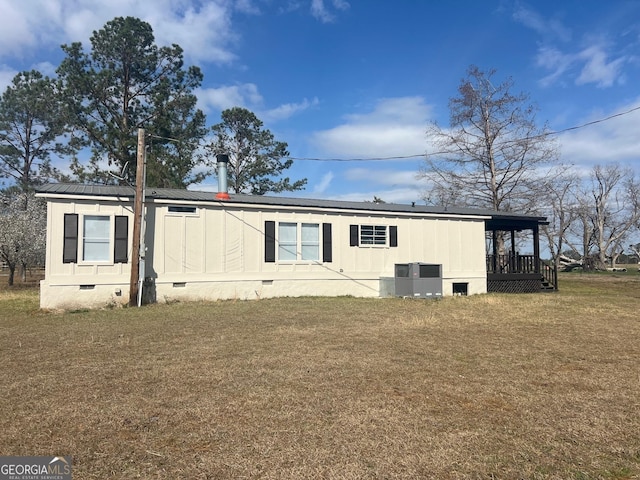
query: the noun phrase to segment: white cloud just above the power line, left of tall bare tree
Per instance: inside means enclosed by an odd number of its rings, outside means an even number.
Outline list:
[[[346,123],[315,132],[311,141],[325,154],[343,157],[421,154],[429,113],[422,97],[383,99],[370,113],[349,115]]]

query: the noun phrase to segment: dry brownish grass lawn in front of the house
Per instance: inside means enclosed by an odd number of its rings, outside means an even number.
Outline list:
[[[74,479],[640,477],[640,274],[560,292],[38,310],[0,290],[0,455]]]

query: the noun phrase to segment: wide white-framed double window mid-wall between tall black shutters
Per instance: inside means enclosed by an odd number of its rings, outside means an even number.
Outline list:
[[[278,223],[278,261],[320,260],[320,224]]]

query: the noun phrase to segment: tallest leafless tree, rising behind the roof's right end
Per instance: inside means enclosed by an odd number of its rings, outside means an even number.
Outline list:
[[[471,66],[449,101],[450,128],[427,130],[431,153],[418,174],[427,180],[427,203],[530,212],[540,180],[557,157],[546,125],[509,78],[494,86],[495,70]]]

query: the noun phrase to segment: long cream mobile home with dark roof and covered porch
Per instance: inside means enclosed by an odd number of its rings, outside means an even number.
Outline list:
[[[134,194],[125,186],[39,188],[48,205],[42,308],[128,302]],[[158,302],[486,293],[497,263],[487,261],[485,232],[531,228],[537,243],[541,223],[541,217],[484,210],[233,194],[220,199],[149,188],[142,292],[145,301]],[[413,273],[414,266],[424,275]],[[540,272],[529,273],[539,290]],[[431,283],[412,283],[411,276]]]

